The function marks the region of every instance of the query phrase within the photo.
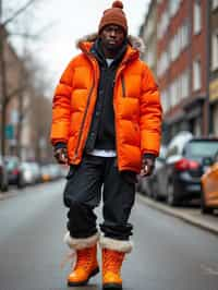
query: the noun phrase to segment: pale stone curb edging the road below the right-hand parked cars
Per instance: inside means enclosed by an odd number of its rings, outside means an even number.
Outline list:
[[[182,213],[179,212],[175,208],[170,208],[167,207],[166,205],[159,204],[157,202],[153,202],[152,200],[149,200],[146,196],[143,196],[141,194],[137,194],[137,198],[145,203],[147,206],[149,206],[150,208],[157,209],[164,214],[168,214],[170,216],[173,216],[175,218],[179,218],[181,220],[183,220],[186,223],[193,225],[195,227],[198,227],[203,230],[206,230],[215,235],[218,235],[218,222],[217,225],[211,225],[209,221],[207,220],[202,220],[197,217],[194,217],[192,215],[190,215],[189,213]]]

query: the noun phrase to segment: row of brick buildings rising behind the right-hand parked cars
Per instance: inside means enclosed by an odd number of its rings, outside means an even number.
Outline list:
[[[140,36],[161,92],[164,141],[181,130],[218,136],[218,0],[152,0]]]

